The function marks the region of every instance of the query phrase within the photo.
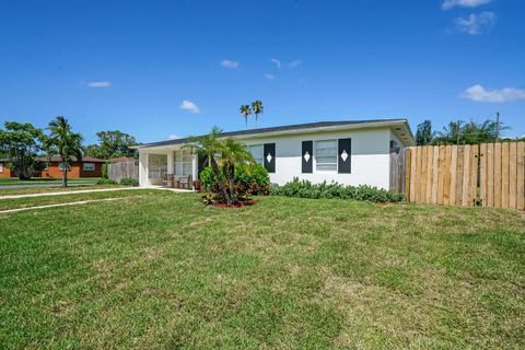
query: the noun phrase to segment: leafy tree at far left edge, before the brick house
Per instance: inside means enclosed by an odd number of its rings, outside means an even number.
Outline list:
[[[7,121],[0,130],[0,153],[20,179],[30,179],[37,165],[44,133],[30,122]]]

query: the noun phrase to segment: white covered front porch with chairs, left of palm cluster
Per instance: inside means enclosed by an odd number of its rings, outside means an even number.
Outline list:
[[[166,179],[177,184],[189,177],[189,187],[199,179],[206,160],[192,154],[182,145],[142,149],[139,155],[139,182],[141,187],[163,187]],[[170,186],[168,186],[170,187]]]

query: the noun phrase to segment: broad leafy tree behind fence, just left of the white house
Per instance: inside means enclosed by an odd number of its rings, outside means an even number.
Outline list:
[[[131,149],[131,145],[137,144],[137,140],[129,133],[115,131],[100,131],[96,133],[98,144],[90,144],[85,149],[85,155],[112,159],[118,156],[137,156],[137,150]]]

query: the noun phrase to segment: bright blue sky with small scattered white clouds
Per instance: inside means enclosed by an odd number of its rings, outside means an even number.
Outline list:
[[[482,121],[525,135],[523,0],[0,3],[0,122],[67,116],[86,142],[320,120]],[[250,122],[255,127],[255,121]]]

